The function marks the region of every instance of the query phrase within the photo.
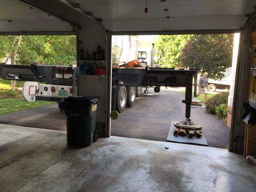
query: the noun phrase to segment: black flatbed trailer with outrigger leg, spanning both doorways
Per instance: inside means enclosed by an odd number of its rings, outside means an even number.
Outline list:
[[[136,97],[134,91],[142,86],[171,86],[185,87],[186,118],[190,117],[192,102],[193,77],[197,76],[197,69],[150,68],[145,69],[112,69],[112,109],[122,112],[126,104],[132,106]],[[35,100],[60,102],[65,96],[76,95],[75,67],[59,65],[7,65],[0,64],[1,78],[6,80],[39,82],[35,94],[30,94]],[[196,82],[196,81],[195,81]],[[41,84],[44,83],[44,84]],[[29,89],[32,85],[24,85]],[[33,85],[35,86],[35,85]],[[120,92],[121,91],[121,92]],[[129,91],[129,92],[128,92]],[[133,95],[131,95],[133,94]],[[26,98],[26,97],[25,97]],[[35,99],[34,99],[35,98]],[[119,108],[122,105],[122,108]]]

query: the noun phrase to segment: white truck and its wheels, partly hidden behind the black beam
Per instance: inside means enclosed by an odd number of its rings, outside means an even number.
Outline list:
[[[159,67],[156,58],[154,43],[152,46],[138,47],[140,43],[137,36],[114,36],[112,41],[112,53],[115,55],[115,60],[112,59],[112,68],[115,69],[145,69]],[[119,50],[117,50],[119,49]],[[158,54],[161,56],[161,54]],[[112,54],[113,56],[113,54]],[[141,96],[152,86],[115,86],[115,77],[112,76],[112,109],[122,113],[125,107],[134,105],[135,98]],[[160,92],[160,86],[154,86],[156,93]]]

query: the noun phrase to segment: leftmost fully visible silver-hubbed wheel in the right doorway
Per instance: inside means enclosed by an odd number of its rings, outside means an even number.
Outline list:
[[[126,107],[127,101],[127,90],[125,86],[118,86],[117,87],[117,95],[116,95],[116,110],[122,113]]]

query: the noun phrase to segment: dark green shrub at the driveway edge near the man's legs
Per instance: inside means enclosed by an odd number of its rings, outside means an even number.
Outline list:
[[[216,113],[215,108],[218,107],[220,104],[228,105],[228,98],[229,98],[229,92],[222,92],[211,97],[205,102],[206,112],[215,114]]]

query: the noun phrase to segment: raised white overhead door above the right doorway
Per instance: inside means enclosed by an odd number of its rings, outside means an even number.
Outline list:
[[[79,3],[85,11],[103,19],[104,27],[112,32],[236,30],[244,26],[245,14],[252,13],[256,6],[255,0],[147,0],[148,12],[145,13],[146,0],[72,2]]]

